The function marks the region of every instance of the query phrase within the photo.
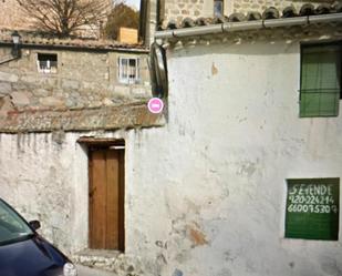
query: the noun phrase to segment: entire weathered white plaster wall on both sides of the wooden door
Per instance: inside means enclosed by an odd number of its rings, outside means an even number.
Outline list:
[[[286,180],[342,167],[341,115],[299,119],[299,51],[296,41],[169,50],[165,127],[1,134],[0,196],[28,219],[41,214],[62,249],[83,249],[87,159],[76,140],[125,139],[132,275],[342,275],[341,242],[283,238]]]

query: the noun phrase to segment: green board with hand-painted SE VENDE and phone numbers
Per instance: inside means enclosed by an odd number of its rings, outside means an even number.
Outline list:
[[[338,241],[340,178],[287,182],[286,237]]]

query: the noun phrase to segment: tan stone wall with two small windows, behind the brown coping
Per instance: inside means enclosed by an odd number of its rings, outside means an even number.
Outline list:
[[[9,47],[1,47],[0,59],[10,57],[10,50]],[[58,55],[55,73],[39,72],[38,53]],[[118,82],[118,57],[139,58],[139,83],[121,84]],[[2,122],[9,114],[22,114],[25,111],[31,112],[27,114],[34,116],[37,112],[49,110],[80,111],[114,108],[142,102],[149,96],[147,54],[144,53],[24,48],[19,60],[0,65]],[[4,124],[1,123],[1,125],[4,127]],[[35,129],[33,122],[32,127]]]

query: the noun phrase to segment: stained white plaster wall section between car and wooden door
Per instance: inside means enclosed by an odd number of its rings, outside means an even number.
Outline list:
[[[40,219],[40,233],[68,254],[87,248],[89,160],[81,136],[129,141],[122,131],[0,135],[0,197],[28,221]]]

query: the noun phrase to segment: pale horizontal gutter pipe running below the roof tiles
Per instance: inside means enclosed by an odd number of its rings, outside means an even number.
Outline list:
[[[290,25],[309,25],[313,23],[329,23],[340,21],[342,21],[342,13],[257,20],[247,22],[225,22],[220,24],[157,31],[155,34],[155,39],[185,38],[185,37],[216,34],[216,33],[225,33],[234,31],[258,30],[258,29],[290,27]]]

